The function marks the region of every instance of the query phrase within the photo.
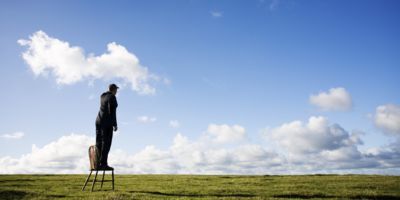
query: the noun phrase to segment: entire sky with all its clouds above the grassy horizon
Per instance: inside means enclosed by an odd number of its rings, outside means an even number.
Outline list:
[[[2,1],[0,173],[400,174],[396,0]]]

